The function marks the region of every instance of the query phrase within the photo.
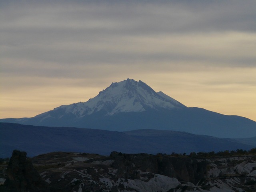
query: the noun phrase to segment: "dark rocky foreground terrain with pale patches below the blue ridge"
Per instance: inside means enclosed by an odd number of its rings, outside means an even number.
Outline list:
[[[1,191],[254,192],[256,156],[198,158],[166,154],[52,152],[26,158],[15,150]]]

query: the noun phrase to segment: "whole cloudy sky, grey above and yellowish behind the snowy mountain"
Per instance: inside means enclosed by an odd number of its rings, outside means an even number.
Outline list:
[[[0,118],[142,80],[256,121],[256,1],[0,0]]]

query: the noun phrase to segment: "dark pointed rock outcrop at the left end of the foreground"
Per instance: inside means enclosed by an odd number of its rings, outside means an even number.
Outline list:
[[[49,192],[47,183],[27,160],[26,152],[14,150],[7,167],[4,188],[10,192]]]

